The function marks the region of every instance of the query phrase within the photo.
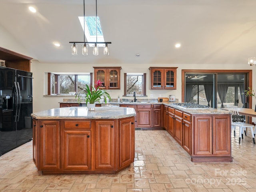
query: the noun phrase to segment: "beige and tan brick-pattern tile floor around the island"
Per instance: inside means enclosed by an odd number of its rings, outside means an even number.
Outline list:
[[[0,157],[0,192],[255,192],[256,145],[232,134],[230,163],[193,163],[164,130],[135,131],[135,161],[118,174],[42,175],[32,141]]]

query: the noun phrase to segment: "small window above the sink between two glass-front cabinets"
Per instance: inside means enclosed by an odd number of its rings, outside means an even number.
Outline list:
[[[124,96],[146,96],[146,73],[124,74]]]

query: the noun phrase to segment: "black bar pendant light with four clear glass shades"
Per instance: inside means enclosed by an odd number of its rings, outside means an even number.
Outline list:
[[[72,43],[71,45],[71,54],[72,55],[77,55],[77,44],[83,44],[82,45],[82,54],[83,55],[88,55],[88,44],[94,44],[93,48],[92,48],[92,54],[93,55],[98,55],[99,54],[99,50],[98,50],[98,44],[105,44],[104,48],[103,48],[103,54],[104,55],[109,55],[109,44],[111,44],[111,42],[98,42],[98,22],[97,22],[97,0],[96,0],[96,42],[86,42],[85,41],[85,34],[84,34],[84,42],[69,42]],[[84,4],[84,30],[85,30],[85,4]]]

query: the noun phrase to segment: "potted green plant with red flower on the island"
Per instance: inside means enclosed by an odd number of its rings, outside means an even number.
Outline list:
[[[101,86],[102,82],[98,80],[95,83],[95,87],[92,86],[92,90],[90,90],[88,85],[82,87],[82,90],[78,93],[78,95],[76,95],[76,98],[78,97],[78,103],[80,104],[80,102],[84,101],[86,102],[87,106],[88,104],[94,104],[95,107],[95,103],[100,102],[100,99],[102,98],[104,99],[104,102],[107,103],[107,98],[111,100],[111,97],[106,90],[100,89]]]

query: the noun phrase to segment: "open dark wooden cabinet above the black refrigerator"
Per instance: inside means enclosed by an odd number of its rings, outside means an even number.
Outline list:
[[[6,67],[30,71],[30,61],[33,58],[0,47],[0,59],[5,60]]]

